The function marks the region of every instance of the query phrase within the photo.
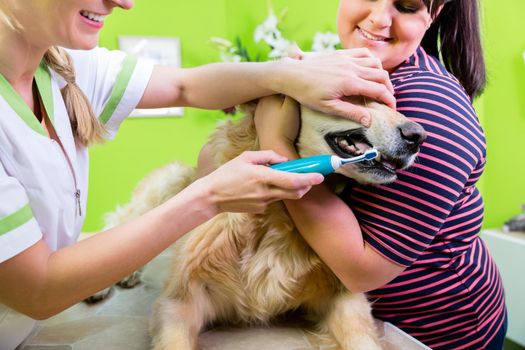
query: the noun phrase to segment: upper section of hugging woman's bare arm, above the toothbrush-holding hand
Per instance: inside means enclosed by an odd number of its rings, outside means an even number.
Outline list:
[[[299,133],[299,105],[291,97],[272,95],[259,99],[255,109],[255,129],[261,149],[272,149],[295,158],[295,139]]]

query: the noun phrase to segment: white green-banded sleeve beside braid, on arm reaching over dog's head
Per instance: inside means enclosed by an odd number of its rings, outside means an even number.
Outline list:
[[[122,121],[140,102],[154,64],[105,48],[68,50],[68,53],[73,58],[77,84],[106,126],[108,137],[113,138]]]

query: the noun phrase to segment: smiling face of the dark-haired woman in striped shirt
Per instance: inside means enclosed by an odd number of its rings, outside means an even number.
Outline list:
[[[343,47],[368,48],[389,71],[415,52],[431,23],[422,0],[341,0],[337,14]]]

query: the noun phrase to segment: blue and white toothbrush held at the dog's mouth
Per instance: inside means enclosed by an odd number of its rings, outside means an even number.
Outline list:
[[[359,156],[351,158],[341,158],[331,154],[323,154],[273,164],[270,165],[270,168],[293,173],[321,173],[326,176],[336,171],[342,165],[372,160],[377,158],[377,156],[379,156],[379,152],[375,148],[372,148]]]

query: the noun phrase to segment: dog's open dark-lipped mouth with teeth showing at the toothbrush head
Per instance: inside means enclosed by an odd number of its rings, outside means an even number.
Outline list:
[[[359,156],[374,148],[364,135],[364,128],[328,133],[325,135],[325,141],[332,151],[342,158]],[[395,175],[396,170],[406,166],[406,161],[390,157],[380,150],[376,159],[365,160],[355,165],[364,171],[381,171]]]

